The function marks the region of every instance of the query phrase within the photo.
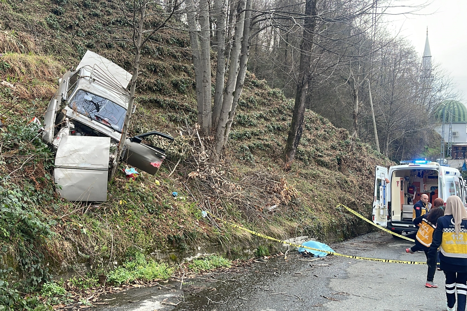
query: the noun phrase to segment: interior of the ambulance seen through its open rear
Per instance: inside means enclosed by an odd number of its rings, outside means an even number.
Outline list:
[[[391,178],[391,221],[412,222],[413,205],[422,194],[433,204],[438,198],[438,171],[396,170]]]

